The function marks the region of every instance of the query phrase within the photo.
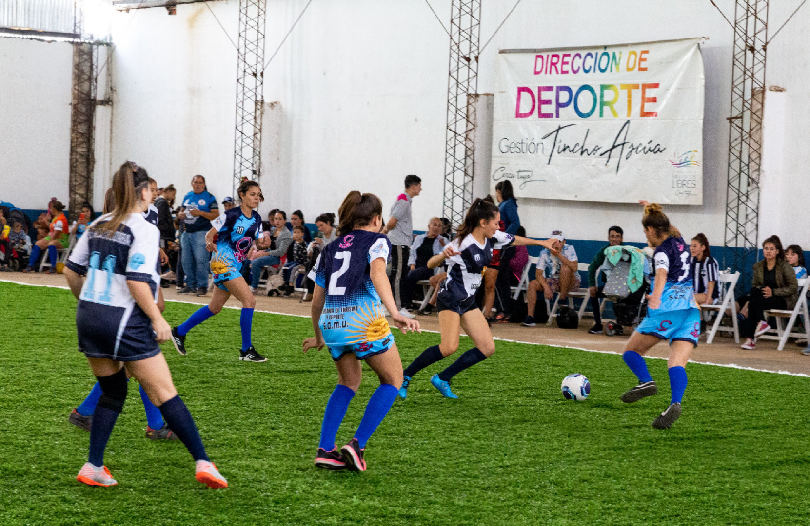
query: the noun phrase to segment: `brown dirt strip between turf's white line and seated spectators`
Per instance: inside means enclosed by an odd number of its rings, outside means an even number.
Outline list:
[[[8,273],[0,276],[0,281],[18,282],[28,285],[38,286],[60,286],[66,287],[65,278],[62,275],[49,274],[23,274]],[[194,295],[177,295],[174,286],[163,289],[164,298],[167,301],[181,301],[185,303],[205,304],[211,295],[197,297]],[[265,312],[275,312],[292,316],[309,316],[311,303],[301,303],[300,295],[291,295],[286,298],[267,297],[259,294],[256,296],[256,310]],[[227,305],[232,308],[239,308],[241,305],[236,299],[229,299]],[[422,329],[438,331],[438,318],[432,316],[417,316]],[[584,350],[595,350],[600,352],[612,352],[620,354],[625,347],[628,336],[607,337],[603,334],[588,334],[587,329],[592,325],[587,317],[582,319],[580,328],[576,330],[558,329],[555,326],[537,326],[533,328],[522,327],[518,324],[496,324],[492,325],[492,335],[496,339],[523,341],[527,343],[537,343],[550,346],[575,347]],[[625,331],[629,332],[629,331]],[[776,350],[777,341],[762,340],[757,343],[756,350],[740,349],[735,344],[731,333],[724,336],[719,333],[714,338],[712,345],[706,345],[706,336],[701,337],[701,345],[697,346],[692,354],[693,362],[714,363],[727,367],[751,368],[762,371],[772,371],[793,375],[810,375],[810,356],[801,354],[801,348],[796,346],[795,340],[788,341],[784,350]],[[301,337],[305,337],[304,334]],[[648,356],[656,358],[667,357],[667,346],[661,344],[655,346]]]

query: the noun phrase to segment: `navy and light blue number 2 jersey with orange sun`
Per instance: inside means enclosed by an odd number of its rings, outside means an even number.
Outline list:
[[[309,273],[326,291],[320,324],[326,345],[368,345],[390,336],[371,262],[388,260],[391,242],[377,232],[355,230],[326,245]],[[360,349],[362,350],[362,349]]]

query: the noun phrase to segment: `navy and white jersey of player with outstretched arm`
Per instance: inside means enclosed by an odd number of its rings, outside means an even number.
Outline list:
[[[458,305],[474,296],[475,291],[481,286],[484,269],[492,261],[492,250],[502,250],[512,244],[512,241],[514,236],[502,231],[496,231],[495,235],[484,241],[483,245],[472,235],[465,236],[463,240],[458,238],[452,240],[450,246],[461,253],[445,260],[447,278],[439,289],[439,295],[445,305]]]

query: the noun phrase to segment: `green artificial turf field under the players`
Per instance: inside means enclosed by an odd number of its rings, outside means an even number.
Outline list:
[[[807,378],[689,365],[684,415],[650,422],[661,393],[618,397],[635,378],[620,356],[498,342],[497,353],[439,396],[422,371],[369,441],[369,470],[313,466],[335,386],[326,350],[301,353],[308,319],[257,312],[266,363],[237,360],[239,312],[194,329],[187,356],[164,345],[181,397],[227,490],[194,481],[179,441],[144,438],[135,384],[105,462],[118,486],[75,481],[88,434],[67,422],[94,379],[76,351],[68,291],[0,282],[0,524],[808,524]],[[195,307],[168,303],[176,325]],[[542,330],[542,329],[539,329]],[[410,363],[435,333],[396,335]],[[471,346],[463,340],[461,349]],[[562,378],[588,376],[590,398],[565,401]],[[377,382],[365,382],[338,435],[352,437]]]

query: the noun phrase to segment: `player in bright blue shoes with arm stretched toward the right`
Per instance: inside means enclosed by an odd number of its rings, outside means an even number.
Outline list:
[[[450,390],[450,379],[495,352],[495,341],[492,340],[487,320],[475,305],[475,291],[481,285],[481,274],[492,260],[492,250],[500,250],[510,244],[518,247],[552,247],[552,240],[531,240],[499,231],[500,221],[501,213],[497,206],[483,199],[475,199],[464,223],[458,228],[456,239],[447,244],[441,254],[428,261],[428,267],[435,269],[447,260],[447,278],[441,283],[436,301],[441,343],[428,347],[407,367],[403,386],[399,389],[400,397],[407,397],[407,386],[413,375],[458,350],[458,337],[462,328],[472,338],[475,347],[430,379],[433,387],[443,396],[458,398]]]

